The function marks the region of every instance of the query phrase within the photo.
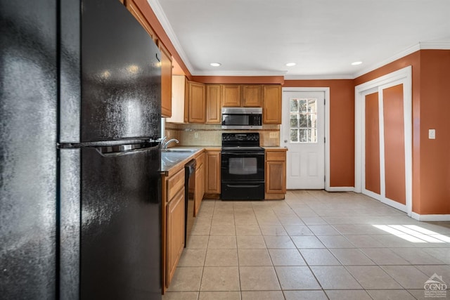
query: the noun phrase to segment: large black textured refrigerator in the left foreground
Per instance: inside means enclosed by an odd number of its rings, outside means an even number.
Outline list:
[[[118,0],[0,0],[2,299],[161,299],[160,52]]]

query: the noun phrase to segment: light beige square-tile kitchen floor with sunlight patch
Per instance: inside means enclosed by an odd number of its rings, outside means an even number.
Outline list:
[[[418,222],[356,193],[288,191],[203,200],[162,299],[430,299],[435,273],[450,287],[450,222]]]

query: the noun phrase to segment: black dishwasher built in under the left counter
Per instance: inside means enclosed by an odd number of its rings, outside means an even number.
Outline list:
[[[194,224],[194,196],[195,196],[195,159],[184,165],[184,247],[188,244]]]

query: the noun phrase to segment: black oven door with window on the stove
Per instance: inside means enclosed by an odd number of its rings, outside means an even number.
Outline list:
[[[264,181],[264,151],[221,152],[221,181]]]

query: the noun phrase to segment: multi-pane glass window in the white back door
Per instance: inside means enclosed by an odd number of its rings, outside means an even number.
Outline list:
[[[290,142],[317,143],[317,99],[290,99]]]

